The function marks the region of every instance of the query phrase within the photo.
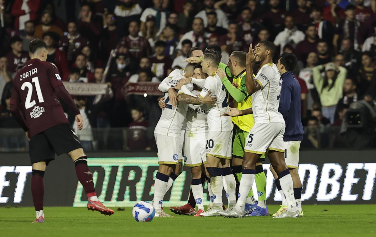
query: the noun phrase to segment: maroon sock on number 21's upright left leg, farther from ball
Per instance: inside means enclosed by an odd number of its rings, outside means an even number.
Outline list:
[[[32,172],[31,194],[33,196],[33,203],[34,203],[35,210],[40,211],[40,210],[43,210],[44,171],[32,169],[31,172]]]

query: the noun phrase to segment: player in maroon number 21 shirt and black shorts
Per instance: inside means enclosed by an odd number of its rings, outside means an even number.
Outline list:
[[[46,166],[55,159],[55,153],[58,156],[66,153],[73,160],[77,177],[88,196],[88,210],[114,214],[98,200],[87,156],[64,115],[59,98],[76,114],[77,128],[82,129],[82,116],[65,89],[58,69],[53,63],[45,62],[47,45],[40,39],[33,39],[29,55],[31,59],[13,80],[11,112],[29,139],[31,192],[36,210],[34,222],[44,222],[43,176]]]

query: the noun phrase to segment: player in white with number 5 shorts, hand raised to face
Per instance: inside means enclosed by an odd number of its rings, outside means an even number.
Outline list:
[[[240,115],[253,113],[255,125],[250,130],[244,147],[243,176],[237,204],[225,211],[218,211],[222,216],[245,216],[244,205],[255,180],[255,164],[266,151],[287,201],[287,211],[273,218],[300,217],[294,199],[293,180],[284,159],[285,120],[278,112],[282,79],[273,63],[274,53],[275,47],[270,41],[259,42],[255,52],[250,44],[247,53],[246,87],[248,93],[252,94],[252,108],[240,111]],[[253,77],[253,63],[261,65],[256,77]]]

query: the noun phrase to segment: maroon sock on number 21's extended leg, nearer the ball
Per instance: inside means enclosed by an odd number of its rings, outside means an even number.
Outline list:
[[[93,175],[89,170],[87,159],[87,156],[82,156],[78,158],[74,162],[74,166],[76,166],[77,178],[82,184],[86,196],[90,198],[91,196],[97,196],[97,194],[95,193]]]

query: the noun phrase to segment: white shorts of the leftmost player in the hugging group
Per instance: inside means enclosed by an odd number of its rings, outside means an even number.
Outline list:
[[[179,150],[181,152],[180,138],[158,133],[154,133],[154,137],[158,149],[158,164],[182,162],[182,159],[179,159]]]

